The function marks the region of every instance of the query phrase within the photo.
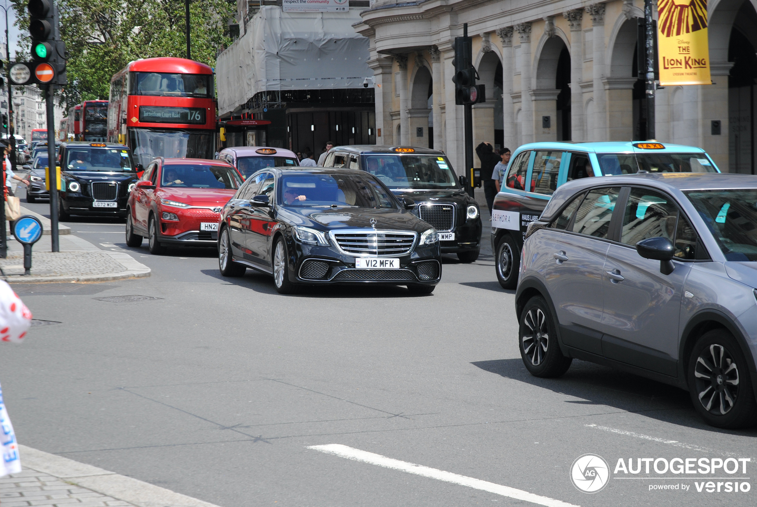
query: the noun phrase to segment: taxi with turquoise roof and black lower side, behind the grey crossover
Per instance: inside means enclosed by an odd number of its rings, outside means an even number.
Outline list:
[[[557,187],[589,176],[636,173],[719,173],[695,146],[647,142],[535,142],[510,159],[491,212],[491,248],[497,280],[516,288],[528,224],[537,220]]]

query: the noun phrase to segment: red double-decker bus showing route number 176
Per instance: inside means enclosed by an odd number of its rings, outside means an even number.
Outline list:
[[[132,61],[111,79],[108,141],[132,148],[143,167],[154,157],[213,158],[213,70],[185,58]]]

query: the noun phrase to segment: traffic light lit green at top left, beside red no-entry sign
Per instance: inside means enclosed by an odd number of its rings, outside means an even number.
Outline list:
[[[66,46],[59,36],[58,8],[52,0],[30,0],[26,7],[34,60],[30,70],[39,85],[65,85]]]

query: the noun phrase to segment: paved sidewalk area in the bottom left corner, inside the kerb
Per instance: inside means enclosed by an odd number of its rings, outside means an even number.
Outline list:
[[[12,474],[0,479],[0,505],[2,507],[29,507],[30,505],[110,507],[111,505],[134,504],[69,484],[58,477],[25,467],[20,474]]]

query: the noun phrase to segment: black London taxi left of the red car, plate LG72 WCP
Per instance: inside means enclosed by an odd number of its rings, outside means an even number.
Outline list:
[[[129,192],[138,179],[130,148],[110,142],[63,142],[58,164],[59,219],[70,215],[126,218]]]

